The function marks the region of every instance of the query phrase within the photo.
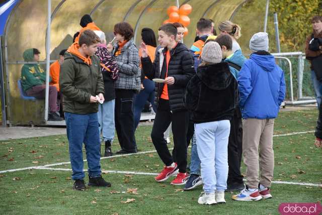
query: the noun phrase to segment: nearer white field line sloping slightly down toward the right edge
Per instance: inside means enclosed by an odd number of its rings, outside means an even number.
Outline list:
[[[49,168],[49,167],[39,167],[37,169],[44,170],[55,170],[55,171],[71,171],[71,169],[63,168]],[[84,171],[87,171],[84,169]],[[118,171],[118,170],[103,170],[103,173],[117,173],[117,174],[132,174],[132,175],[157,175],[157,173],[151,172],[135,172],[135,171]],[[244,181],[246,181],[244,179]],[[290,181],[272,181],[274,184],[290,184],[290,185],[302,185],[302,186],[322,186],[322,184],[313,184],[313,183],[302,183],[302,182],[290,182]]]

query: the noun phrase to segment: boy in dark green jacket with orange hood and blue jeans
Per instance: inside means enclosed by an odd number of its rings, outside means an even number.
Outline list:
[[[101,176],[98,101],[104,101],[104,83],[100,61],[95,55],[100,38],[86,30],[65,53],[59,76],[60,91],[64,96],[64,111],[69,142],[73,188],[86,188],[83,171],[83,143],[89,166],[89,186],[110,187]],[[97,98],[99,97],[99,99]]]

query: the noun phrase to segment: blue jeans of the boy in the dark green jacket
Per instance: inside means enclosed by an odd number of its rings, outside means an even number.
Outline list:
[[[83,179],[85,177],[83,170],[83,143],[85,144],[86,149],[89,176],[100,176],[101,143],[97,113],[83,115],[65,112],[65,121],[69,143],[72,179]]]

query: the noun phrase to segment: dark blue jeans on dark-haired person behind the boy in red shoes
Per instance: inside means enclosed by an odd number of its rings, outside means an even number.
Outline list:
[[[135,96],[134,100],[134,128],[137,128],[137,125],[140,122],[141,112],[144,108],[145,102],[148,100],[152,104],[153,111],[156,113],[154,105],[154,82],[150,79],[143,80],[144,89],[140,91],[139,94]]]

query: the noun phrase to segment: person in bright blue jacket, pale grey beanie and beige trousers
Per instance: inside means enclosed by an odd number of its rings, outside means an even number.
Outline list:
[[[268,43],[267,33],[253,35],[250,40],[253,53],[237,78],[247,178],[246,188],[232,196],[232,199],[238,201],[272,198],[270,186],[274,170],[274,119],[284,100],[286,88],[284,72],[268,52]]]

